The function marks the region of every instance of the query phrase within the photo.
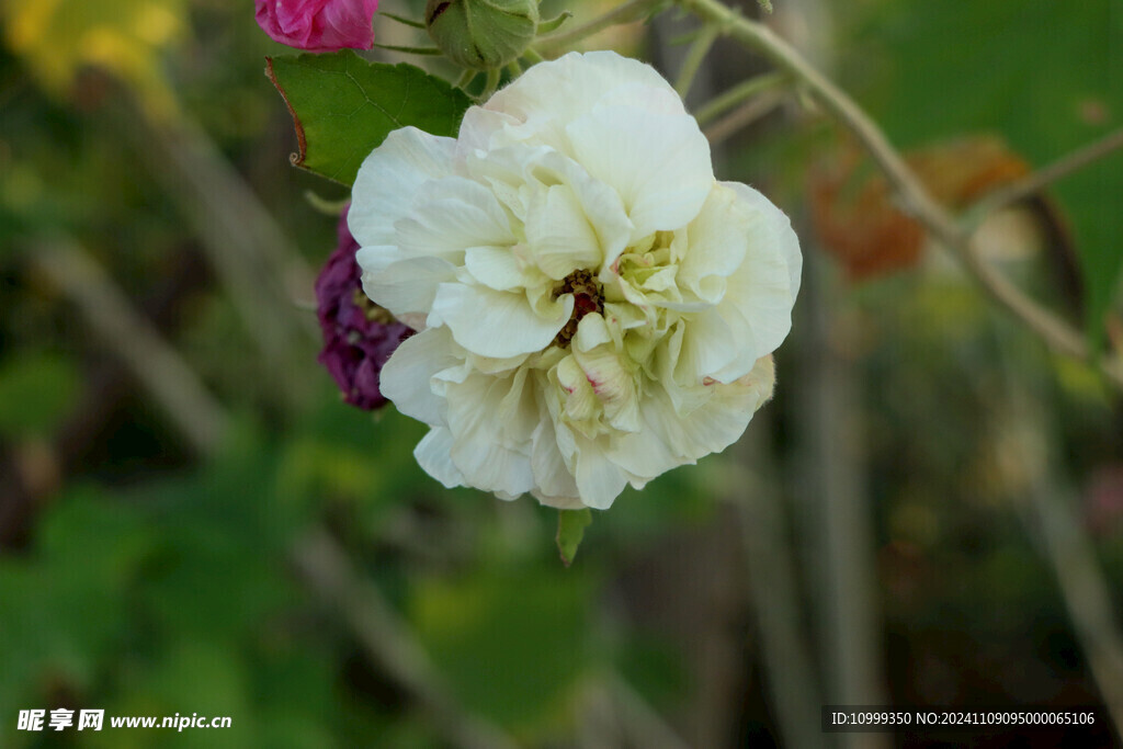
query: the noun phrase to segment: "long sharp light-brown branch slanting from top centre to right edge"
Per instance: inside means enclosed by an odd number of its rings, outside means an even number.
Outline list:
[[[1053,350],[1099,367],[1117,387],[1123,389],[1123,360],[1097,359],[1084,335],[1043,308],[1008,278],[988,265],[977,252],[971,232],[928,193],[880,128],[850,97],[815,70],[788,43],[772,29],[742,18],[720,0],[678,0],[686,10],[703,20],[722,24],[741,44],[756,49],[779,70],[791,74],[811,92],[823,108],[849,129],[885,173],[903,210],[916,218],[931,235],[947,246],[975,276],[983,289]]]

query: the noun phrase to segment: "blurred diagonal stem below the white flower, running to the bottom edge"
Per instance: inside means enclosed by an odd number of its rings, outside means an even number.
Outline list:
[[[311,532],[293,549],[292,561],[308,586],[339,611],[367,657],[428,713],[450,746],[460,749],[518,746],[499,727],[465,712],[456,703],[409,627],[378,588],[359,577],[330,533],[322,529]]]

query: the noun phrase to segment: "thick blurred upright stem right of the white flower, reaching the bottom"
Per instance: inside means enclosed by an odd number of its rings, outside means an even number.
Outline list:
[[[874,508],[870,503],[858,373],[839,323],[839,281],[816,253],[803,266],[803,317],[795,335],[802,383],[792,404],[794,488],[803,505],[809,601],[820,643],[828,704],[882,705],[883,623],[877,604]],[[839,736],[847,748],[888,747],[885,734]]]

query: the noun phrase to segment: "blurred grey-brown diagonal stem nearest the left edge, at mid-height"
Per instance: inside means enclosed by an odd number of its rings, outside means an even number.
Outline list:
[[[200,455],[213,455],[230,419],[194,371],[75,241],[58,239],[33,249],[36,266],[77,305],[94,335],[121,358],[172,424]]]

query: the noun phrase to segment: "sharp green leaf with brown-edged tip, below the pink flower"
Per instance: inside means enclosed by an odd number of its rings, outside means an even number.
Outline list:
[[[413,126],[455,136],[472,100],[420,67],[368,63],[350,49],[267,58],[265,74],[284,97],[300,153],[292,163],[351,184],[391,131]]]

